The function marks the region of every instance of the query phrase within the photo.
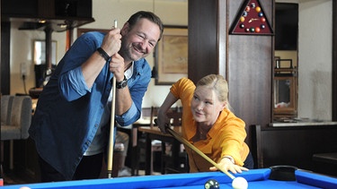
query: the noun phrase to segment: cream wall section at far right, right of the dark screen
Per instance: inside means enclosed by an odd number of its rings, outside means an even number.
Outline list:
[[[299,4],[298,116],[332,120],[333,0]]]

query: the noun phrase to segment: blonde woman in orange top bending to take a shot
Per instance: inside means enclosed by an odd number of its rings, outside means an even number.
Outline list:
[[[182,101],[182,137],[232,173],[253,168],[253,158],[244,142],[244,121],[230,110],[228,84],[223,76],[210,74],[197,86],[182,78],[175,82],[158,110],[158,126],[165,132],[169,124],[166,112],[178,100]],[[185,147],[190,172],[216,171],[206,159]]]

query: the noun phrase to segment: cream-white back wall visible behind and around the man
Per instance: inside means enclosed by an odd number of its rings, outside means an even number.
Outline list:
[[[93,0],[93,18],[95,21],[81,28],[110,29],[113,21],[118,21],[122,27],[132,13],[140,10],[151,11],[157,14],[164,25],[188,24],[187,0]],[[45,39],[44,31],[18,30],[20,25],[13,23],[11,30],[11,94],[24,93],[20,73],[20,64],[26,63],[29,72],[26,79],[26,89],[35,87],[34,68],[32,61],[32,47],[34,39]],[[77,30],[74,30],[76,38]],[[74,38],[74,39],[75,39]],[[52,39],[58,41],[58,61],[66,52],[66,32],[53,32]],[[154,65],[153,55],[147,58],[150,66]],[[155,85],[151,80],[144,98],[143,107],[159,107],[170,89],[169,85]],[[181,106],[178,102],[177,106]]]

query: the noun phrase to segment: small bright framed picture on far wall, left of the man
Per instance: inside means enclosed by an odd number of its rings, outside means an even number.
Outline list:
[[[58,42],[56,40],[51,41],[51,64],[58,64]],[[34,40],[34,64],[46,64],[46,41]]]

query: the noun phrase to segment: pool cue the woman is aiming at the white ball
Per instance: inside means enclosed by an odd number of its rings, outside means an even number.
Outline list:
[[[226,169],[221,168],[219,165],[217,165],[217,163],[214,162],[214,160],[209,159],[208,156],[206,156],[206,154],[204,154],[201,150],[197,149],[197,147],[193,146],[186,139],[182,138],[182,136],[179,133],[176,133],[175,131],[173,131],[173,129],[171,129],[168,126],[166,127],[166,131],[168,133],[171,133],[176,140],[182,142],[183,144],[185,144],[186,146],[188,146],[191,150],[194,150],[202,158],[206,159],[209,163],[211,163],[214,167],[216,167],[217,169],[221,170],[223,173],[226,174],[226,176],[229,176],[230,178],[235,179],[235,176],[233,176],[232,174],[230,174]]]

